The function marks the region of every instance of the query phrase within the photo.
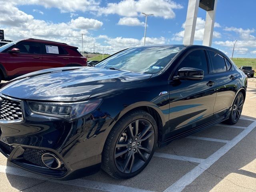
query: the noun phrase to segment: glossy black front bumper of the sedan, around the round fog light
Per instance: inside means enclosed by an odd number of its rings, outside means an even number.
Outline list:
[[[100,169],[101,153],[108,135],[111,118],[106,118],[97,136],[97,125],[91,114],[74,122],[32,113],[22,102],[23,120],[0,122],[0,152],[11,164],[42,176],[70,180],[94,174]],[[89,138],[86,138],[91,131]],[[50,169],[42,162],[42,154],[58,157],[61,166]]]

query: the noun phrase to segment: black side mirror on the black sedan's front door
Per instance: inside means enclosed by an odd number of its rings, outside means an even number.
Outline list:
[[[204,70],[184,67],[178,70],[178,76],[174,79],[185,79],[185,80],[202,80],[204,78]]]

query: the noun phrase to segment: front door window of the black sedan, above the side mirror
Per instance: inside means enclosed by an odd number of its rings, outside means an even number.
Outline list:
[[[180,63],[178,70],[184,67],[192,67],[204,70],[204,74],[208,74],[208,65],[204,50],[195,50],[189,53]]]

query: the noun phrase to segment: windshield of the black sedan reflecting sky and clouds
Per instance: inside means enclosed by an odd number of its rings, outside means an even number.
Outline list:
[[[134,47],[115,54],[95,67],[138,73],[160,72],[184,46]]]

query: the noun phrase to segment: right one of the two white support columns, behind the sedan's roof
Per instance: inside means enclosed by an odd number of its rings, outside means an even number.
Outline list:
[[[206,11],[205,27],[204,27],[204,46],[212,46],[212,36],[214,30],[215,13],[218,0],[215,0],[213,11]]]

